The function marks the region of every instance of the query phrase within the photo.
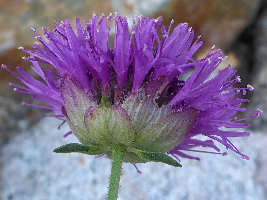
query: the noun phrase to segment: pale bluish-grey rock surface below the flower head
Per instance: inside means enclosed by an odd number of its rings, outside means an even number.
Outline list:
[[[58,146],[77,142],[74,135],[63,138],[69,127],[65,124],[58,131],[59,124],[53,118],[44,118],[30,131],[3,145],[2,200],[106,198],[110,160],[78,153],[53,153]],[[262,184],[254,179],[267,136],[254,133],[231,141],[250,160],[242,160],[231,151],[226,156],[202,153],[201,161],[182,159],[182,168],[162,163],[137,164],[142,174],[133,165],[123,164],[119,200],[265,199]],[[266,159],[266,154],[263,156]],[[266,176],[266,171],[262,174]]]

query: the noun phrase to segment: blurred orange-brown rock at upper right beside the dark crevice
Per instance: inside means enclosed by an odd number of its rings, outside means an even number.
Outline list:
[[[256,18],[260,0],[172,0],[154,17],[162,15],[163,22],[174,25],[187,22],[195,35],[202,35],[205,47],[215,45],[226,50],[241,31]]]

